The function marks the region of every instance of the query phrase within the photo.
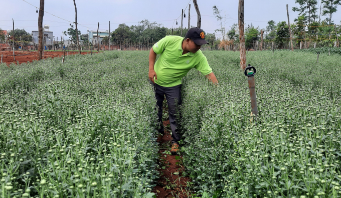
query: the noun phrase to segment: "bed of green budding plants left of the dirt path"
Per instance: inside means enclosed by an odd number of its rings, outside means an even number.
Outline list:
[[[2,197],[152,197],[157,119],[146,54],[0,64]]]

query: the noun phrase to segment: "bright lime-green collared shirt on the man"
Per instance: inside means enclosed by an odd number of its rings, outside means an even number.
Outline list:
[[[201,50],[183,55],[183,40],[184,38],[181,36],[168,35],[153,45],[154,52],[160,54],[154,65],[157,77],[154,82],[156,84],[166,87],[179,85],[181,78],[193,67],[203,75],[212,72],[212,68]]]

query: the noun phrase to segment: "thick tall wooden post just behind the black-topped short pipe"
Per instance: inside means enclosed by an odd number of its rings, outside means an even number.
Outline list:
[[[246,68],[245,36],[244,36],[244,0],[239,0],[238,26],[239,26],[239,40],[240,40],[240,49],[239,49],[240,68],[244,71]]]

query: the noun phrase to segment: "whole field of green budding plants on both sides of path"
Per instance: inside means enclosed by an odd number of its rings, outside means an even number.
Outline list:
[[[181,153],[194,196],[340,197],[341,56],[204,51],[219,86],[183,79]],[[2,197],[153,197],[156,109],[148,51],[0,64]]]

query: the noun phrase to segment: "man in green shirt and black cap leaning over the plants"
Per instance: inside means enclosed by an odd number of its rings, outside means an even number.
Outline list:
[[[172,154],[179,150],[180,136],[176,120],[177,106],[181,105],[181,78],[191,68],[198,69],[210,81],[218,84],[218,80],[203,52],[201,45],[208,44],[205,33],[198,27],[188,30],[185,38],[169,35],[156,42],[149,52],[149,79],[153,82],[156,105],[158,106],[158,132],[163,135],[162,102],[164,95],[168,104],[170,128],[172,128]],[[156,55],[160,54],[155,62]]]

